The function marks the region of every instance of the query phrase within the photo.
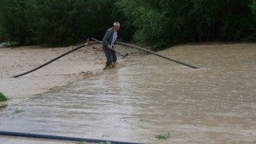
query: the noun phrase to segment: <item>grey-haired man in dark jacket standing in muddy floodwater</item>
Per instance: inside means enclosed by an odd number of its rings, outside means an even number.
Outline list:
[[[116,66],[117,63],[117,55],[114,51],[114,42],[116,42],[118,38],[118,30],[120,29],[120,23],[114,22],[113,27],[110,27],[110,29],[106,30],[106,34],[103,38],[103,50],[106,54],[106,66],[104,70],[106,70],[109,66]]]

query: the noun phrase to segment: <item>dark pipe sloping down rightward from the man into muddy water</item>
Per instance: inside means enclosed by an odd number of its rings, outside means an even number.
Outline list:
[[[179,61],[177,61],[177,60],[175,60],[175,59],[173,59],[173,58],[168,58],[168,57],[163,56],[163,55],[161,55],[161,54],[155,53],[154,51],[143,49],[142,47],[139,47],[139,46],[134,46],[134,45],[130,45],[130,44],[123,43],[123,42],[115,42],[115,43],[117,43],[118,45],[129,46],[129,47],[132,47],[132,48],[134,48],[134,49],[146,51],[146,52],[148,52],[148,53],[150,53],[150,54],[157,55],[158,57],[166,58],[166,59],[168,59],[168,60],[170,60],[170,61],[177,62],[177,63],[182,64],[182,65],[185,65],[185,66],[190,66],[190,67],[192,67],[192,68],[194,68],[194,69],[199,69],[199,67],[197,67],[197,66],[192,66],[192,65],[186,64],[186,63],[184,63],[184,62],[179,62]]]

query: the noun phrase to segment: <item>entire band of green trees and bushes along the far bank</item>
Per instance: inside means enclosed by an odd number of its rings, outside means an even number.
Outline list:
[[[119,38],[157,47],[253,42],[256,1],[0,0],[0,42],[70,45],[102,38],[115,21]]]

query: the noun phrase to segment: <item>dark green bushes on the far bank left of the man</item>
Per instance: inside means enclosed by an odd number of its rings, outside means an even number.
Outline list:
[[[70,45],[110,26],[112,2],[0,0],[0,38],[22,45]]]

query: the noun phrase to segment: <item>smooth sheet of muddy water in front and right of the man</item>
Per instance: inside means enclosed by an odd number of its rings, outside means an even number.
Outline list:
[[[255,44],[176,46],[159,54],[201,69],[148,55],[9,102],[0,111],[0,130],[122,142],[256,143]],[[155,138],[162,132],[171,137]],[[22,141],[0,136],[0,142]]]

